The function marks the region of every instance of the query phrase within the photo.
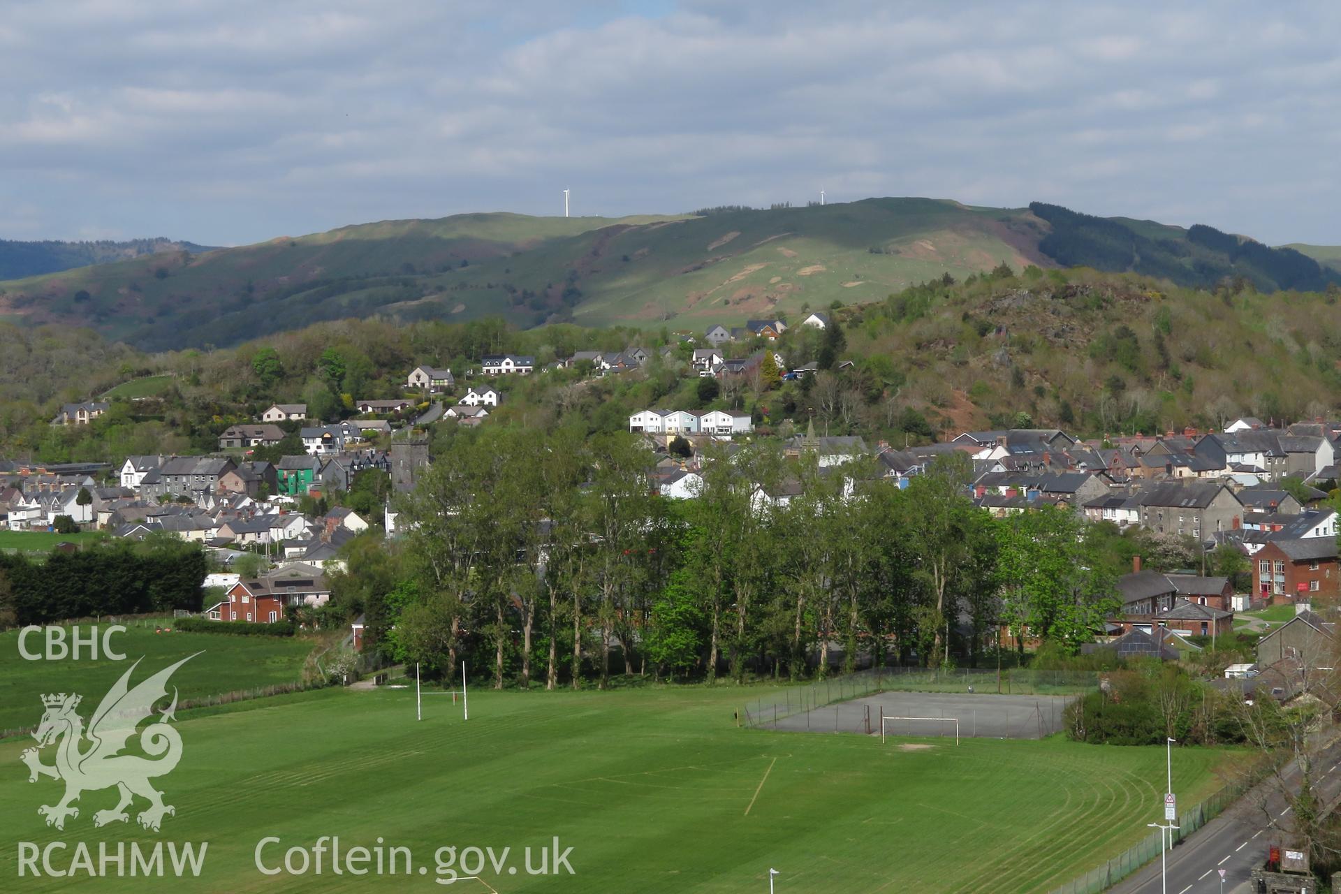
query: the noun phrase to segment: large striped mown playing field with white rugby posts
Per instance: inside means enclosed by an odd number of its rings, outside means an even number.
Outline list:
[[[1038,891],[1143,838],[1164,779],[1159,748],[1054,739],[905,751],[742,730],[736,689],[479,692],[468,722],[449,697],[424,701],[422,722],[413,689],[320,690],[182,718],[182,761],[156,783],[176,807],[158,836],[133,822],[94,828],[107,791],[86,793],[64,831],[46,827],[36,808],[54,803],[55,783],[30,785],[23,743],[0,743],[0,878],[13,891],[433,891],[439,847],[511,847],[508,863],[524,867],[523,848],[558,836],[574,875],[485,867],[483,882],[451,890],[762,891],[776,867],[779,894]],[[1218,787],[1226,755],[1173,757],[1184,803]],[[271,835],[282,843],[267,844],[267,867],[338,835],[342,850],[409,847],[416,870],[334,875],[327,856],[322,875],[263,877],[253,854]],[[17,879],[12,843],[51,840],[209,848],[185,883]]]

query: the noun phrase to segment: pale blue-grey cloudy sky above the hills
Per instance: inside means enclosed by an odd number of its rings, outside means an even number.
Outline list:
[[[0,239],[1031,200],[1341,243],[1341,4],[66,0],[0,17]]]

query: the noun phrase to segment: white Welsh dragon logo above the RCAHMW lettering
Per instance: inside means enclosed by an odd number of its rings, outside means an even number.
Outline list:
[[[196,655],[198,654],[197,651]],[[30,783],[38,781],[39,776],[51,776],[66,783],[66,796],[58,804],[43,804],[38,808],[38,814],[47,818],[47,826],[63,830],[67,816],[79,818],[79,808],[71,806],[79,800],[79,795],[113,785],[121,793],[121,800],[111,810],[95,812],[94,826],[129,822],[130,815],[126,808],[131,806],[135,795],[149,802],[149,808],[135,816],[145,828],[157,832],[164,816],[176,815],[177,811],[170,804],[164,804],[164,793],[149,781],[156,776],[170,773],[181,760],[181,736],[168,725],[168,721],[176,720],[176,688],[172,704],[161,712],[158,722],[139,732],[139,748],[149,757],[121,752],[125,751],[127,740],[135,735],[139,722],[154,713],[154,704],[168,696],[168,680],[173,672],[196,655],[182,658],[130,689],[127,685],[130,674],[139,666],[139,661],[133,663],[98,704],[98,709],[89,720],[87,730],[83,718],[75,713],[82,701],[80,696],[59,693],[42,697],[46,713],[32,735],[38,740],[38,748],[24,749],[19,757],[28,765]],[[43,764],[38,749],[51,745],[58,739],[60,744],[56,745],[56,763]],[[83,747],[84,740],[91,743],[87,748]]]

